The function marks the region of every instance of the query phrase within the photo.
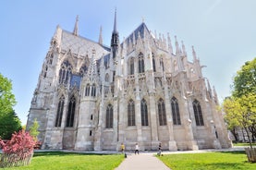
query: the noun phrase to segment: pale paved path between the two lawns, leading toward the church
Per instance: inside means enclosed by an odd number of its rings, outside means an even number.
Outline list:
[[[170,170],[155,153],[129,154],[116,170]]]

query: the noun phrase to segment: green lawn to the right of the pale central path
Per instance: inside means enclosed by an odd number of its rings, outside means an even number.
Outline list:
[[[172,170],[255,170],[256,164],[248,162],[245,152],[205,152],[165,154],[159,157]]]

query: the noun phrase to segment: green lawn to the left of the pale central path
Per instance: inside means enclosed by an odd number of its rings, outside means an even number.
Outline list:
[[[87,169],[113,170],[124,160],[122,154],[85,154],[73,152],[35,152],[28,166],[10,167],[12,169]]]

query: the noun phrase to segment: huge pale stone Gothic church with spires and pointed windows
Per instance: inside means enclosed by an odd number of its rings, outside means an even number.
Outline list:
[[[27,128],[36,119],[42,149],[184,151],[228,148],[217,94],[192,47],[152,33],[144,22],[110,47],[57,26],[34,91]]]

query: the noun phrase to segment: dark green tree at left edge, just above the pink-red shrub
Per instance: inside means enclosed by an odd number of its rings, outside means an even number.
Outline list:
[[[12,110],[8,114],[0,115],[0,138],[10,140],[14,132],[21,130],[21,121]]]

